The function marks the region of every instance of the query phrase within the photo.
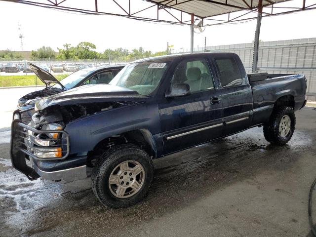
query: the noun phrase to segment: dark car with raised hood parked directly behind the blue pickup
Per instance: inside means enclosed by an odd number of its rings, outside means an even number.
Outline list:
[[[123,66],[86,68],[69,75],[61,81],[58,81],[53,75],[43,70],[41,67],[32,63],[28,63],[28,65],[46,85],[46,88],[31,92],[21,97],[18,101],[19,110],[33,108],[35,102],[40,100],[42,97],[58,94],[80,85],[109,83],[123,68]],[[34,110],[30,110],[26,113],[22,113],[21,116],[27,123],[27,121],[31,119],[33,113]]]

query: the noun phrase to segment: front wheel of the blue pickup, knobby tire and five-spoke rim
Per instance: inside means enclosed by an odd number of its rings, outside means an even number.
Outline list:
[[[122,165],[126,162],[127,169]],[[135,166],[129,167],[133,165]],[[141,173],[136,174],[137,171],[132,170],[136,166],[137,170],[142,168]],[[144,150],[133,145],[118,145],[104,152],[92,169],[92,190],[104,205],[113,208],[128,207],[139,202],[146,195],[153,177],[153,161]],[[129,184],[129,180],[133,180],[132,183]],[[129,186],[126,186],[128,184]],[[137,191],[135,186],[138,188]],[[126,188],[125,191],[124,188]],[[123,196],[119,192],[121,190],[124,192]],[[120,197],[117,197],[118,195]]]

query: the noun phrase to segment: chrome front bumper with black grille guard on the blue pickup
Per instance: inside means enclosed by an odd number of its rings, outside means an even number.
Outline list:
[[[28,133],[63,133],[61,158],[39,158],[32,152],[30,143],[32,135]],[[34,145],[34,144],[33,144]],[[20,119],[14,119],[11,127],[10,156],[12,166],[25,174],[28,179],[43,178],[47,180],[73,181],[86,178],[86,157],[65,159],[69,155],[69,136],[65,131],[37,130],[22,123]]]

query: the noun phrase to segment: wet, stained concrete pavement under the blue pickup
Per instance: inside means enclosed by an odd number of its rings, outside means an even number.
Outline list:
[[[122,209],[102,206],[89,179],[29,181],[11,167],[3,138],[0,236],[312,237],[307,208],[316,177],[316,110],[296,117],[285,146],[270,145],[262,128],[252,128],[155,160],[147,197]]]

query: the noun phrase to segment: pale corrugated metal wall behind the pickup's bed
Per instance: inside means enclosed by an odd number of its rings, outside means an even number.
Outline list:
[[[204,47],[194,51],[203,52]],[[246,71],[251,72],[253,43],[208,46],[206,51],[237,53]],[[316,100],[316,38],[260,42],[258,70],[271,74],[305,74],[308,99]]]

